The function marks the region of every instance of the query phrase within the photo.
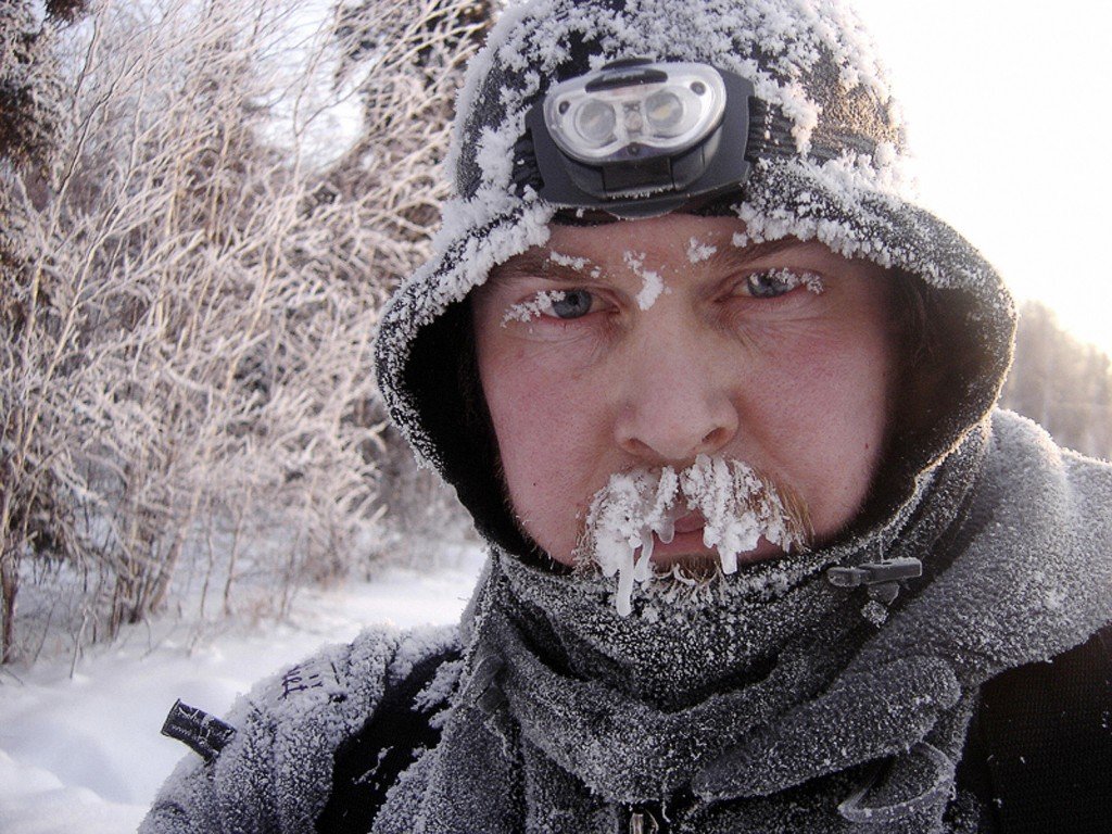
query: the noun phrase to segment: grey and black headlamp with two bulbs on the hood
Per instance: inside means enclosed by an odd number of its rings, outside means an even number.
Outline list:
[[[748,176],[753,85],[704,63],[633,59],[553,87],[526,116],[537,191],[566,208],[662,215]]]

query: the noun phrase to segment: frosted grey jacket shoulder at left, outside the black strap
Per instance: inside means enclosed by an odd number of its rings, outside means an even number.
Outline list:
[[[256,684],[210,761],[193,754],[159,791],[139,834],[305,832],[328,800],[335,752],[424,658],[458,651],[456,626],[370,628]]]

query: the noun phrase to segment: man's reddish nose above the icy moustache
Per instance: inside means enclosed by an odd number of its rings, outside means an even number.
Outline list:
[[[666,332],[626,355],[615,439],[626,453],[654,464],[712,455],[737,434],[728,359],[705,342]]]

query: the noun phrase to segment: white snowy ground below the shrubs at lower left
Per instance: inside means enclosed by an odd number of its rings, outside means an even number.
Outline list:
[[[306,593],[289,623],[229,629],[192,649],[195,631],[156,623],[71,661],[0,671],[0,832],[133,832],[189,751],[159,735],[176,698],[217,715],[237,694],[364,626],[455,622],[481,558],[435,573],[394,570],[374,584]]]

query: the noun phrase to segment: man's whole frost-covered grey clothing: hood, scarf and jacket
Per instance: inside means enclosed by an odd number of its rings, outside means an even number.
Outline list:
[[[519,163],[525,110],[554,80],[633,56],[749,78],[765,127],[754,171],[739,199],[702,210],[736,214],[752,240],[817,239],[920,281],[935,348],[902,380],[910,407],[844,536],[679,603],[637,588],[619,617],[610,580],[552,569],[504,506],[466,368],[465,299],[556,217]],[[964,239],[907,201],[898,115],[855,20],[802,0],[513,6],[459,112],[458,197],[438,254],[384,316],[378,366],[395,420],[457,488],[492,558],[463,659],[423,696],[439,742],[373,831],[612,832],[631,805],[659,802],[676,832],[989,830],[991,793],[955,787],[979,689],[1112,620],[1112,469],[992,413],[1011,299]],[[924,576],[890,608],[826,578],[901,556]],[[294,686],[262,684],[230,718],[231,743],[210,765],[183,763],[141,832],[312,831],[335,752],[390,681],[456,639],[369,632]]]

